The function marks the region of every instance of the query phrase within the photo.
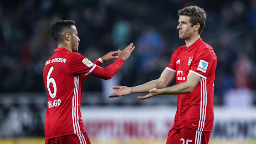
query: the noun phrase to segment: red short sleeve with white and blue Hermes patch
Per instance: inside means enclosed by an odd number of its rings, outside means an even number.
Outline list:
[[[201,78],[207,79],[210,69],[215,62],[214,53],[210,50],[200,51],[193,59],[189,72],[194,73]]]

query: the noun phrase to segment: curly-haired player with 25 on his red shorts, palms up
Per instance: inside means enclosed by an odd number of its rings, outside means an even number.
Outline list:
[[[206,12],[198,6],[178,11],[178,32],[185,45],[172,54],[170,64],[159,79],[135,87],[119,89],[108,97],[149,92],[138,99],[156,95],[176,95],[177,111],[166,144],[208,144],[213,127],[213,92],[217,57],[200,34],[205,26]],[[166,87],[176,77],[177,84]]]

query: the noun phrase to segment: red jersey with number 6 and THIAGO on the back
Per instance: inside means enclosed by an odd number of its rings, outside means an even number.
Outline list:
[[[46,139],[85,132],[80,105],[82,82],[89,75],[110,79],[121,68],[123,59],[102,68],[99,60],[92,63],[79,53],[55,49],[43,69],[48,102],[45,119]]]

